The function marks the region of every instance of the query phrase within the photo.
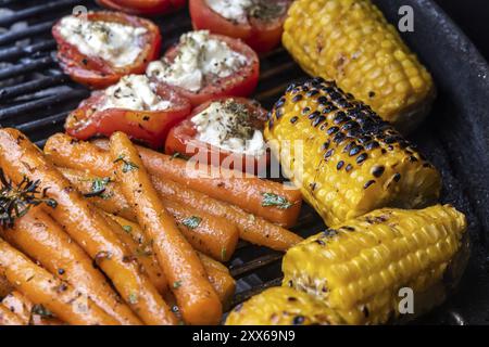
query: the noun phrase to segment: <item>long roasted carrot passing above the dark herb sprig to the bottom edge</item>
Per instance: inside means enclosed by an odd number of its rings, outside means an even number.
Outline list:
[[[103,216],[15,129],[0,129],[0,165],[14,181],[38,182],[39,191],[55,202],[45,206],[67,233],[112,280],[117,292],[147,324],[174,324],[176,318],[137,265],[125,261],[125,245]]]

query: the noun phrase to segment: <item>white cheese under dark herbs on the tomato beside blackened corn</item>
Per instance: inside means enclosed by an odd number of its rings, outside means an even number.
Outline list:
[[[260,156],[265,153],[265,140],[261,130],[250,126],[249,117],[246,107],[228,100],[211,103],[190,120],[197,140],[226,151]]]

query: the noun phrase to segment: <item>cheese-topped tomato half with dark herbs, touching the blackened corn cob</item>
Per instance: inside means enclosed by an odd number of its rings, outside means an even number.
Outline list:
[[[255,101],[243,98],[209,101],[170,131],[165,152],[187,157],[198,155],[199,160],[214,166],[254,174],[269,162],[263,139],[265,118],[266,111]]]

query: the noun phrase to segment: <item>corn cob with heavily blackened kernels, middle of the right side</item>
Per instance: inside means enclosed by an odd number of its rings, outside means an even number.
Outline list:
[[[322,78],[288,88],[265,137],[328,226],[387,206],[425,207],[439,195],[439,172],[414,146]]]

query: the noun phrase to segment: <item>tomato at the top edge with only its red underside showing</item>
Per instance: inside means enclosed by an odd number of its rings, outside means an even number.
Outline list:
[[[163,14],[185,7],[187,0],[98,0],[105,8],[133,14]]]

